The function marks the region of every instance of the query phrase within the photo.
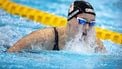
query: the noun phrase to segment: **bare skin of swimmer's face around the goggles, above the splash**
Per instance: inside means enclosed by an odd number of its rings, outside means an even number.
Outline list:
[[[85,19],[87,21],[87,24],[79,24],[76,17]],[[93,27],[90,26],[88,23],[90,23],[91,21],[95,21],[95,16],[92,14],[82,13],[78,14],[76,17],[68,21],[68,35],[71,37],[74,37],[76,34],[78,34],[80,30],[82,30],[82,33],[87,34],[87,31]]]

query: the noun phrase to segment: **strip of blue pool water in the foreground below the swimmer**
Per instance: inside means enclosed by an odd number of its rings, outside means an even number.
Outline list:
[[[0,69],[121,69],[115,55],[77,54],[66,51],[1,53]]]

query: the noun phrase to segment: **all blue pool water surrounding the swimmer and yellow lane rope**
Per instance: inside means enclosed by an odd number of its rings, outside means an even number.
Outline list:
[[[71,0],[12,0],[56,15],[67,16]],[[88,0],[97,13],[96,26],[122,33],[120,0]],[[122,69],[122,45],[103,41],[108,53],[83,54],[71,51],[6,53],[8,47],[34,30],[46,26],[0,9],[0,69]]]

